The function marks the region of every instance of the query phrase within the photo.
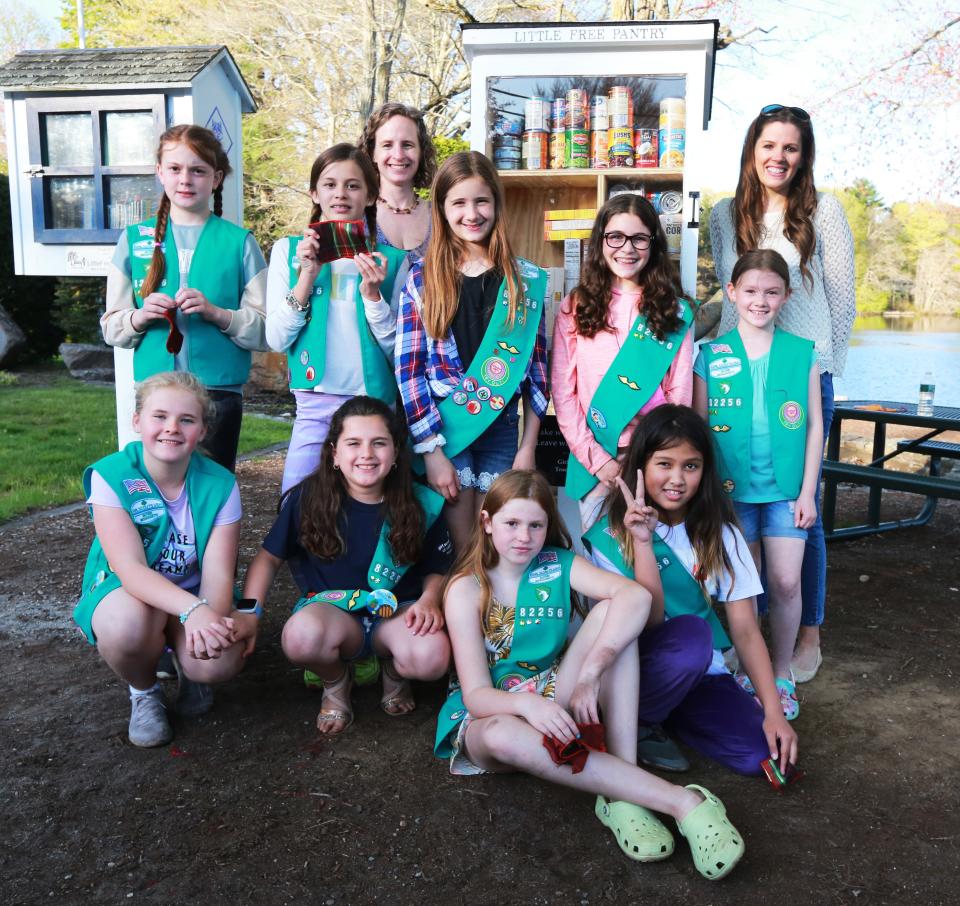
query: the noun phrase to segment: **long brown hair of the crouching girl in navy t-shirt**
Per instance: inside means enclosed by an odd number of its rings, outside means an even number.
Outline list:
[[[387,473],[383,486],[384,517],[390,523],[387,536],[390,551],[398,564],[416,563],[423,548],[426,517],[413,493],[407,424],[382,400],[369,396],[355,396],[334,412],[320,465],[299,485],[302,488],[300,544],[323,560],[344,554],[346,546],[340,528],[349,495],[343,476],[333,467],[333,451],[343,434],[344,422],[351,416],[369,415],[383,419],[397,453],[396,466]]]

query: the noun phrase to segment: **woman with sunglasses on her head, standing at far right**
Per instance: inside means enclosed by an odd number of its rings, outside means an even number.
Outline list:
[[[840,202],[817,192],[814,158],[810,115],[800,107],[764,107],[747,129],[736,194],[718,202],[710,216],[710,239],[721,286],[730,282],[737,258],[752,249],[774,249],[786,259],[793,296],[777,324],[815,344],[827,437],[833,420],[833,376],[843,374],[856,299],[853,236]],[[736,322],[736,308],[724,294],[720,333],[732,330]],[[827,559],[819,481],[817,510],[804,554],[803,616],[792,664],[801,683],[813,679],[821,663]]]

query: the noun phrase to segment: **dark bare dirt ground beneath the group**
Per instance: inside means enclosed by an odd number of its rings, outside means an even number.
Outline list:
[[[243,563],[281,465],[239,468]],[[715,884],[682,838],[666,862],[627,860],[586,796],[451,777],[431,754],[439,683],[402,719],[360,690],[354,726],[321,740],[319,697],[279,644],[289,578],[213,711],[176,724],[171,746],[132,747],[125,690],[70,620],[91,534],[82,509],[0,527],[3,903],[960,902],[956,503],[926,527],[831,546],[826,662],[800,687],[801,784],[778,795],[693,757],[684,782],[718,794],[747,844]]]

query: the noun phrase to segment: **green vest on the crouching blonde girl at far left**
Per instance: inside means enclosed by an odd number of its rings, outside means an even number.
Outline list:
[[[143,443],[133,441],[120,452],[111,453],[88,466],[83,473],[83,491],[88,497],[94,470],[120,498],[143,539],[144,556],[152,568],[163,553],[171,522],[163,497],[144,464]],[[186,483],[196,532],[197,562],[202,565],[214,520],[233,492],[236,478],[213,460],[194,453],[187,468]],[[74,620],[91,645],[96,644],[90,628],[93,612],[100,601],[111,591],[120,588],[121,584],[120,578],[107,562],[100,539],[94,538],[83,571],[81,597],[73,610]]]

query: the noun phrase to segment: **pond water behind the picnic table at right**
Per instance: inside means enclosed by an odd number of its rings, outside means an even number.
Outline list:
[[[857,318],[837,396],[915,403],[933,372],[935,403],[960,406],[960,318]]]

